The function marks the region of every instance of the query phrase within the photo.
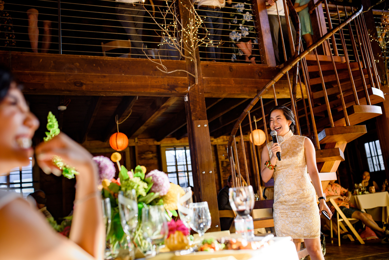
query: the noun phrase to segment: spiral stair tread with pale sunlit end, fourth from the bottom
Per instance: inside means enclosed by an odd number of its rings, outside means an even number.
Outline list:
[[[380,106],[373,105],[353,105],[347,108],[347,115],[349,116],[350,126],[354,126],[373,117],[382,115],[382,109]],[[334,126],[346,126],[343,111],[332,113],[332,118],[334,120]],[[317,129],[322,129],[326,126],[329,126],[328,117],[316,121]]]

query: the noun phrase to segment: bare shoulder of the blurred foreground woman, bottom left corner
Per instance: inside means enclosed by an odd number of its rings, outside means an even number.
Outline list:
[[[13,200],[0,209],[0,230],[0,250],[4,259],[75,259],[70,255],[72,251],[78,252],[79,259],[93,259],[56,233],[43,214],[23,199]]]

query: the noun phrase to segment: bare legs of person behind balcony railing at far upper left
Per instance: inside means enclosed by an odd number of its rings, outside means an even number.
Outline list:
[[[31,49],[33,52],[38,52],[38,38],[39,38],[39,29],[38,29],[38,10],[37,9],[28,9],[27,18],[28,18],[28,37],[30,38]],[[43,37],[42,37],[42,53],[47,53],[50,49],[51,44],[51,21],[43,21]]]

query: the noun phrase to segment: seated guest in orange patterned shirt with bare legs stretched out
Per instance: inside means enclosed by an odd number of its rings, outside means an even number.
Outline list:
[[[347,218],[361,220],[364,225],[374,230],[379,237],[382,237],[382,242],[389,242],[389,230],[383,230],[375,223],[370,214],[355,208],[354,205],[350,203],[350,191],[335,183],[335,180],[331,180],[324,190],[324,193],[326,194],[327,200],[332,198],[336,202],[336,205],[338,205]],[[329,208],[335,213],[335,207],[330,205]]]

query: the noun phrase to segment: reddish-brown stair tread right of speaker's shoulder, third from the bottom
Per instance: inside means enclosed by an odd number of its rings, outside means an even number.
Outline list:
[[[338,141],[345,141],[349,143],[355,140],[359,136],[366,134],[366,126],[339,126],[329,127],[321,131],[318,135],[320,144],[323,143],[336,143]]]

